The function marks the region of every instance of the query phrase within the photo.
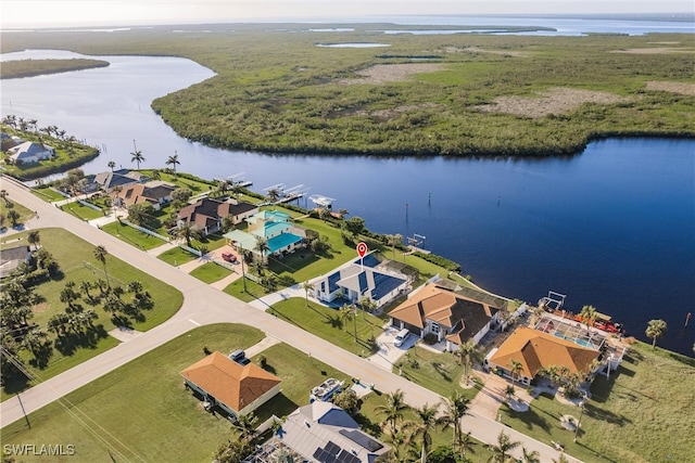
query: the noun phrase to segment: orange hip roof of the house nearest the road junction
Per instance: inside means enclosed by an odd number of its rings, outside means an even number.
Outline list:
[[[180,374],[235,411],[240,411],[281,382],[253,363],[242,366],[219,352],[199,360]]]

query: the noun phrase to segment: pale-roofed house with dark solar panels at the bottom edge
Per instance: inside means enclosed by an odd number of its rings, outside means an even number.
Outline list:
[[[320,400],[290,413],[276,439],[313,463],[374,463],[391,450],[343,409]]]

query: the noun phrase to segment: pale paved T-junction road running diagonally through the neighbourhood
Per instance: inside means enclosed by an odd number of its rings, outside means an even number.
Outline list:
[[[111,255],[130,262],[150,274],[157,275],[162,281],[177,287],[184,293],[185,298],[181,309],[165,323],[22,393],[22,402],[27,413],[40,409],[195,326],[219,322],[245,323],[256,326],[267,335],[287,343],[317,360],[353,377],[359,377],[367,384],[374,384],[379,390],[390,393],[401,389],[405,394],[407,403],[413,407],[438,403],[442,399],[429,389],[388,372],[263,310],[230,297],[155,257],[103,233],[96,227],[63,214],[7,177],[2,178],[2,189],[10,193],[11,200],[39,213],[40,219],[33,222],[31,227],[64,228],[93,245],[102,245]],[[17,399],[8,399],[0,404],[0,424],[2,426],[22,417],[23,412]],[[463,428],[467,432],[470,430],[472,436],[483,442],[495,442],[500,432],[504,430],[511,436],[513,440],[521,441],[528,450],[538,450],[541,454],[541,461],[558,458],[558,452],[549,446],[517,433],[475,411],[464,419]],[[520,454],[520,449],[516,453]]]

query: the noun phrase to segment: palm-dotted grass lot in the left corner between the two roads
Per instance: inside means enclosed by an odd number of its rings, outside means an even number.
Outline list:
[[[25,235],[26,232],[13,235],[11,239]],[[104,279],[105,275],[103,267],[93,257],[94,246],[89,243],[63,229],[41,229],[39,237],[40,244],[52,254],[62,272],[60,280],[46,281],[34,288],[43,300],[40,305],[34,307],[34,317],[30,319],[30,323],[35,323],[46,330],[48,320],[66,308],[60,296],[66,282],[74,281],[79,285],[83,281],[96,282],[98,279]],[[142,310],[138,317],[128,318],[128,323],[135,330],[148,331],[163,323],[176,313],[184,303],[184,296],[178,290],[113,256],[106,256],[106,272],[112,284],[125,286],[131,281],[139,281],[143,290],[152,296],[154,303],[152,309]],[[88,307],[87,301],[84,299],[80,299],[78,304]],[[100,307],[94,307],[94,309],[99,316],[94,320],[97,337],[81,348],[70,346],[71,348],[63,349],[63,353],[58,349],[53,349],[46,368],[35,369],[40,378],[52,377],[117,345],[115,339],[106,335],[108,331],[115,327],[110,314]],[[54,337],[53,332],[46,331],[50,334],[49,338]],[[26,350],[21,351],[20,356],[27,364],[33,359],[33,356]],[[30,385],[33,383],[28,384],[28,386]],[[23,390],[26,386],[24,383],[4,384],[2,400],[7,399],[7,394]]]

